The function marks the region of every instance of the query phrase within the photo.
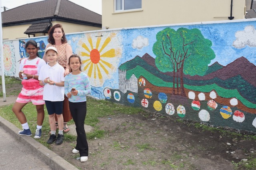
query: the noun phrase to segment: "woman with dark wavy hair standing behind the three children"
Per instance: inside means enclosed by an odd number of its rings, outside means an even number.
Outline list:
[[[58,51],[58,59],[57,62],[64,67],[65,72],[64,76],[69,74],[69,66],[68,66],[68,59],[72,55],[72,48],[67,43],[67,39],[64,33],[64,30],[62,28],[62,25],[56,24],[50,28],[48,31],[48,45],[46,45],[46,49],[48,47],[55,47]],[[43,56],[44,61],[46,60],[46,54]],[[68,132],[69,127],[67,125],[67,122],[72,119],[72,116],[70,114],[69,106],[68,106],[68,98],[65,96],[64,103],[63,103],[63,118],[64,118],[64,127],[63,131]],[[57,118],[55,117],[55,120]],[[57,121],[56,121],[57,122]],[[57,126],[57,125],[56,125]]]

